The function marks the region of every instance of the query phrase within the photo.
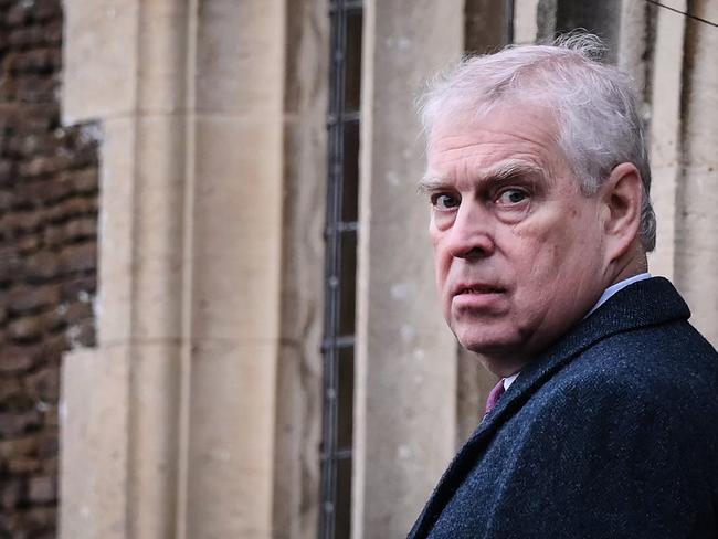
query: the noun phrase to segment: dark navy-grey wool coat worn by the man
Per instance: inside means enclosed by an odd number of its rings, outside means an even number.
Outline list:
[[[445,472],[419,538],[718,537],[718,355],[661,277],[527,367]]]

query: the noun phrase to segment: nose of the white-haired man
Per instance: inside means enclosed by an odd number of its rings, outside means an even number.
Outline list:
[[[446,249],[455,258],[479,260],[490,256],[495,249],[494,230],[488,211],[476,202],[464,201],[446,231]]]

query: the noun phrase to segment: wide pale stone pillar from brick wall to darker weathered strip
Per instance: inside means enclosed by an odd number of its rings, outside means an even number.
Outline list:
[[[98,346],[63,368],[65,539],[268,538],[284,2],[67,0],[103,131]]]

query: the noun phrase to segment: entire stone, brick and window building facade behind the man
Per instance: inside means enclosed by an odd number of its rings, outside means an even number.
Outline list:
[[[403,537],[494,384],[441,319],[423,81],[583,28],[651,271],[718,342],[716,0],[0,0],[0,539]]]

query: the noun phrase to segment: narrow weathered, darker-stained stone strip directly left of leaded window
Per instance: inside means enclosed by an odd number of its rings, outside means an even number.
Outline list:
[[[282,345],[273,539],[316,539],[321,442],[327,0],[288,0],[284,94]]]

